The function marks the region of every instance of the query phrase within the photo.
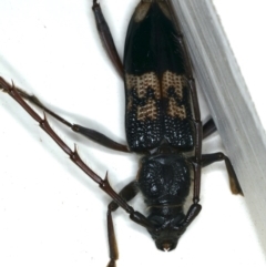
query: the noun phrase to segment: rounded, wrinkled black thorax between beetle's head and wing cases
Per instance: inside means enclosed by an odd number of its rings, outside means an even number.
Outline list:
[[[142,158],[139,187],[150,208],[183,206],[191,186],[191,166],[182,154],[155,154]]]

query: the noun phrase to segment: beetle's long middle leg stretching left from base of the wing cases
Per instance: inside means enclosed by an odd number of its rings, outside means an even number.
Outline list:
[[[8,93],[9,89],[11,85],[6,82],[1,76],[0,76],[0,88],[3,89],[3,92]],[[48,114],[52,115],[54,119],[57,119],[59,122],[63,123],[68,127],[70,127],[72,131],[84,135],[89,140],[92,140],[108,148],[115,150],[115,151],[121,151],[121,152],[129,152],[127,145],[120,144],[111,138],[109,138],[106,135],[99,133],[98,131],[94,131],[92,129],[83,127],[78,124],[72,124],[54,113],[53,111],[49,110],[45,105],[41,103],[41,101],[35,97],[34,95],[30,95],[27,92],[24,92],[21,89],[16,88],[17,92],[22,96],[23,99],[28,100],[30,103],[39,106],[43,111],[45,111]]]

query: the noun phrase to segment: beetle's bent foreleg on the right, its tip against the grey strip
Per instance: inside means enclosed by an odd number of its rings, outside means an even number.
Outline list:
[[[225,161],[225,166],[229,176],[229,186],[231,186],[231,191],[233,194],[237,195],[243,195],[239,182],[236,177],[234,167],[229,161],[229,158],[224,155],[222,152],[218,153],[213,153],[213,154],[204,154],[202,155],[202,166],[205,167],[214,162],[221,162],[221,161]]]

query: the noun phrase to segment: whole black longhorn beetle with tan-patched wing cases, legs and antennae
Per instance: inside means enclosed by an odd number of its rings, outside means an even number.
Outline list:
[[[121,62],[100,4],[93,0],[93,12],[100,37],[108,54],[124,79],[125,132],[127,145],[104,134],[72,124],[45,107],[34,95],[0,78],[3,92],[13,97],[113,199],[108,207],[110,263],[115,266],[117,247],[112,213],[123,208],[130,218],[146,228],[160,250],[173,250],[180,237],[201,212],[201,168],[224,161],[234,194],[243,194],[233,166],[223,153],[202,154],[202,140],[215,131],[212,121],[202,126],[192,66],[167,0],[143,0],[129,24],[124,60]],[[114,151],[143,155],[136,179],[119,194],[110,186],[108,175],[102,178],[80,158],[24,101],[41,107],[72,131]],[[193,199],[188,210],[183,206],[193,179]],[[149,208],[146,215],[134,210],[129,202],[139,193]]]

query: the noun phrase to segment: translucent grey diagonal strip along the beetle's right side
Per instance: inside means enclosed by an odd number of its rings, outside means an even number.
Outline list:
[[[266,251],[266,135],[211,0],[172,1],[196,80]]]

